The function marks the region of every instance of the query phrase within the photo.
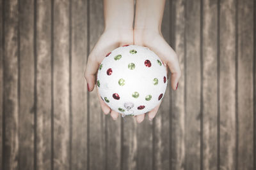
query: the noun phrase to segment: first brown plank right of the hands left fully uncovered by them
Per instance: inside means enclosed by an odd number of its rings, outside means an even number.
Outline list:
[[[186,1],[186,169],[200,169],[200,0]]]

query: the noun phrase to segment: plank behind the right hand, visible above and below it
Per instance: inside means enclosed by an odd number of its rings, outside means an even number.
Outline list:
[[[171,13],[170,1],[166,1],[164,6],[164,15],[162,22],[162,33],[164,39],[170,45],[170,13]],[[169,160],[170,160],[170,81],[168,81],[168,87],[164,95],[164,99],[161,103],[161,106],[158,110],[156,118],[153,120],[153,168],[152,169],[170,169]]]

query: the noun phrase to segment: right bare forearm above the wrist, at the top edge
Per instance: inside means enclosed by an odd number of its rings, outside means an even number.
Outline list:
[[[165,0],[137,0],[134,29],[161,32]]]

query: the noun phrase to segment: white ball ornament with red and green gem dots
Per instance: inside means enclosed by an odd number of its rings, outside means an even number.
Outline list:
[[[163,99],[166,79],[166,66],[156,53],[143,46],[120,46],[102,60],[97,88],[112,110],[140,115]]]

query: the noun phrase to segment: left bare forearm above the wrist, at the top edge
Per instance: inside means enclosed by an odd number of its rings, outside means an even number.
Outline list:
[[[104,0],[105,30],[132,29],[134,0]]]

